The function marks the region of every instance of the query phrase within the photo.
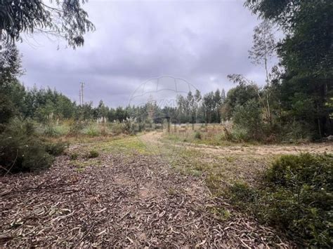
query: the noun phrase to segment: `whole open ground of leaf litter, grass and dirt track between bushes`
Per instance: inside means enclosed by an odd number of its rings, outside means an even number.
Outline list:
[[[237,179],[255,184],[278,154],[332,150],[209,147],[163,133],[75,143],[44,173],[1,178],[0,245],[289,247],[216,193]]]

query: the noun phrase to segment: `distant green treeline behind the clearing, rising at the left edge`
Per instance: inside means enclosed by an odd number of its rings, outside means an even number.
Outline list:
[[[199,90],[194,94],[178,95],[176,106],[160,107],[157,100],[149,100],[145,105],[127,107],[107,107],[100,100],[97,107],[93,103],[77,105],[67,96],[51,88],[25,88],[18,76],[22,74],[20,55],[15,46],[8,46],[1,53],[2,76],[0,83],[1,123],[13,116],[34,119],[41,123],[48,121],[74,119],[124,121],[135,118],[138,122],[161,122],[167,116],[172,123],[219,123],[221,106],[226,100],[224,90],[211,91],[202,96]]]

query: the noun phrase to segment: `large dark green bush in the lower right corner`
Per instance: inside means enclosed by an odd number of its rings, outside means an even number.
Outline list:
[[[333,155],[281,156],[259,188],[230,187],[240,209],[299,238],[306,246],[331,247]]]

